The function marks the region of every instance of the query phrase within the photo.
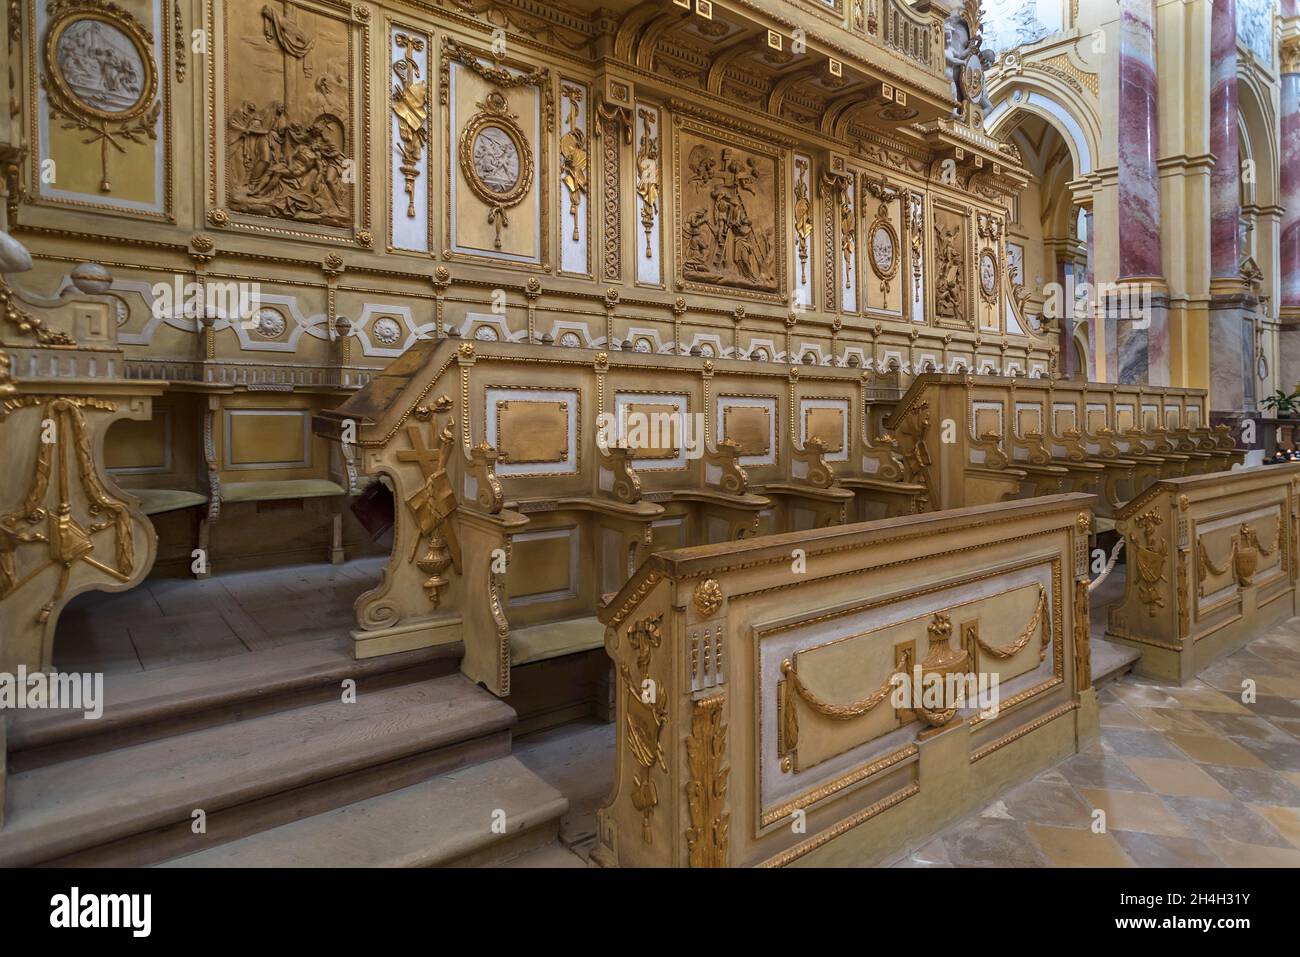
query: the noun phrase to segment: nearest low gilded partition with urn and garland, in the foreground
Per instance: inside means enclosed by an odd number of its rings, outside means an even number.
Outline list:
[[[1093,498],[654,554],[601,614],[595,859],[879,863],[1086,745]]]

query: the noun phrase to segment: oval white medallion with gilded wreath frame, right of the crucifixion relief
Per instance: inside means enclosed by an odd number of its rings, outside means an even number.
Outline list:
[[[495,226],[495,247],[510,226],[506,211],[519,205],[533,185],[533,150],[510,112],[506,95],[493,90],[460,131],[460,170],[488,205],[488,224]]]

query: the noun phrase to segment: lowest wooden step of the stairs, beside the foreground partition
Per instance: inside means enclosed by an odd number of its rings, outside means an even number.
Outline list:
[[[507,757],[188,854],[164,867],[445,867],[552,845],[560,792]],[[498,830],[493,823],[499,820]],[[575,862],[581,863],[576,854]]]

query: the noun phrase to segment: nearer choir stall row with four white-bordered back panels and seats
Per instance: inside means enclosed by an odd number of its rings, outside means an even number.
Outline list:
[[[602,597],[656,549],[927,508],[874,428],[874,385],[849,368],[417,343],[315,419],[396,501],[356,654],[464,641],[464,671],[507,694],[512,664],[599,648]],[[633,413],[668,432],[601,441],[602,415]]]

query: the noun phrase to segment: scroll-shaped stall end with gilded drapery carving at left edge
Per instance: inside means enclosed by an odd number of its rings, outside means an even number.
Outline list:
[[[148,419],[144,397],[26,394],[0,404],[0,671],[49,670],[55,627],[73,597],[135,585],[157,537],[95,449],[120,419]]]

